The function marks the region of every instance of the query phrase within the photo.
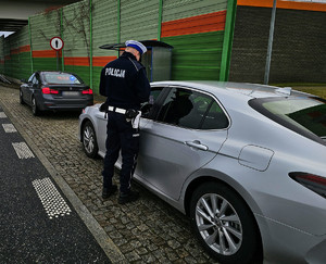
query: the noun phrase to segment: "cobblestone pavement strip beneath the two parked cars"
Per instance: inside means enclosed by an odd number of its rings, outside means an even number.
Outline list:
[[[214,263],[193,238],[188,217],[141,186],[134,184],[141,199],[130,204],[120,205],[117,194],[101,199],[102,160],[88,159],[83,151],[77,139],[79,113],[33,116],[29,106],[20,104],[17,89],[1,86],[0,102],[105,230],[126,263]]]

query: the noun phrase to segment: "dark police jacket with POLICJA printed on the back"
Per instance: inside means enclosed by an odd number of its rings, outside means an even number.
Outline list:
[[[105,104],[121,109],[140,109],[150,96],[146,70],[134,54],[124,52],[109,62],[101,72],[100,95],[106,97]]]

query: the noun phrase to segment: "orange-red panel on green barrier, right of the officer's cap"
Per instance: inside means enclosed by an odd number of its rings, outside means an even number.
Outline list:
[[[218,32],[225,28],[226,11],[162,23],[162,37]]]

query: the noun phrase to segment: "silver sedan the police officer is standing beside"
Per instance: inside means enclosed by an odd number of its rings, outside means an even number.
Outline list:
[[[249,84],[151,86],[134,178],[189,215],[221,263],[325,263],[325,100]],[[79,116],[90,158],[105,154],[99,106]]]

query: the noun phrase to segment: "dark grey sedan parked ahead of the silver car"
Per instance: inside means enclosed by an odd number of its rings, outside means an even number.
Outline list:
[[[47,110],[82,110],[93,104],[92,90],[75,74],[35,72],[22,81],[20,102],[30,105],[34,115]]]

